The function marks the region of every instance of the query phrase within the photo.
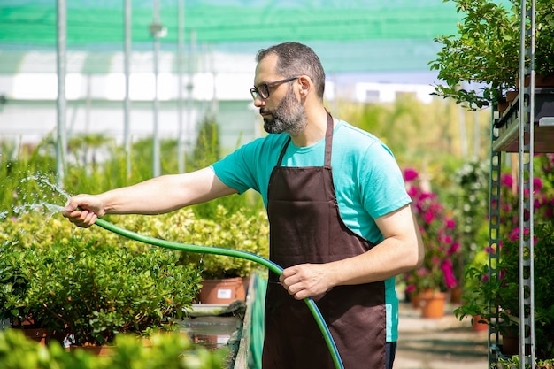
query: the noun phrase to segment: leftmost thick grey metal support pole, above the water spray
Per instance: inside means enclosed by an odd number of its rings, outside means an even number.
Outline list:
[[[65,101],[65,74],[66,74],[66,43],[67,43],[67,13],[65,0],[57,1],[57,69],[58,69],[58,129],[56,137],[56,181],[61,185],[65,177],[65,121],[66,121],[66,101]]]

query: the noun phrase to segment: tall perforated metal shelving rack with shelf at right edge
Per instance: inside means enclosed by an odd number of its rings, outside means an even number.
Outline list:
[[[535,369],[535,282],[533,257],[533,156],[536,152],[554,151],[554,117],[535,116],[535,94],[554,95],[554,88],[535,89],[535,0],[521,1],[520,50],[519,50],[519,96],[504,111],[501,118],[495,117],[491,130],[490,188],[489,188],[489,281],[499,277],[496,265],[500,257],[500,174],[502,152],[518,152],[519,162],[519,363],[520,368]],[[525,76],[530,76],[526,86]],[[546,115],[553,115],[546,113]],[[537,133],[538,135],[535,135]],[[524,217],[524,214],[528,217]],[[526,234],[527,232],[527,234]],[[524,252],[527,251],[527,252]],[[524,258],[524,255],[529,258]],[[498,307],[489,306],[498,319]],[[493,316],[491,314],[491,316]],[[489,325],[489,367],[501,355],[499,332]],[[526,346],[530,355],[526,357]]]

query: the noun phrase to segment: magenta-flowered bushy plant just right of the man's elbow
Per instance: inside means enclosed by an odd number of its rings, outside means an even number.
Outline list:
[[[412,197],[412,211],[418,220],[426,250],[423,265],[404,275],[406,292],[444,292],[455,288],[458,280],[454,275],[453,260],[459,252],[459,242],[454,237],[456,222],[436,194],[425,189],[424,183],[419,181],[419,173],[406,169],[404,181]]]

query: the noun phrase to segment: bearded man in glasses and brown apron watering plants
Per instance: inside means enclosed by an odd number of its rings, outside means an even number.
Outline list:
[[[250,92],[270,134],[214,165],[97,196],[74,196],[64,216],[90,227],[105,213],[158,214],[249,188],[270,222],[264,369],[333,368],[310,311],[312,297],[345,368],[391,368],[396,352],[394,276],[418,267],[423,245],[389,149],[323,105],[325,73],[312,49],[260,50]]]

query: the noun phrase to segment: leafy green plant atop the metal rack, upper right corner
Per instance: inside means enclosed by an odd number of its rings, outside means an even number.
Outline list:
[[[435,95],[479,109],[502,103],[519,81],[519,2],[508,9],[490,0],[443,0],[457,4],[464,14],[458,35],[441,35],[438,58],[429,64],[445,82]],[[554,4],[537,0],[535,6],[535,74],[554,75]]]

